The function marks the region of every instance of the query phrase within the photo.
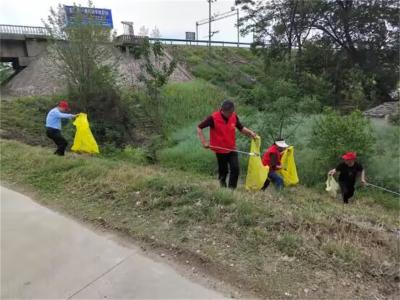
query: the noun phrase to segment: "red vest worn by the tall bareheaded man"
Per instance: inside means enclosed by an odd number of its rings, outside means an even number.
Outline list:
[[[214,127],[210,128],[210,148],[215,153],[229,153],[228,150],[212,148],[212,146],[236,149],[236,113],[233,113],[228,122],[224,120],[220,111],[212,114]]]

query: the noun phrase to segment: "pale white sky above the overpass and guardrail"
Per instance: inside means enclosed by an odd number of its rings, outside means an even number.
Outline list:
[[[234,2],[213,2],[212,14],[230,11]],[[50,7],[73,3],[87,6],[86,0],[0,0],[0,24],[43,26],[41,20],[47,18]],[[185,38],[186,31],[196,31],[196,21],[208,18],[206,0],[94,0],[93,3],[97,8],[112,10],[114,29],[118,34],[123,33],[121,21],[131,21],[135,33],[142,26],[149,28],[150,32],[157,27],[164,38]],[[219,32],[212,39],[236,42],[235,24],[236,16],[213,22],[212,31]],[[208,39],[208,24],[199,26],[199,39]],[[252,38],[240,37],[240,40],[251,42]]]

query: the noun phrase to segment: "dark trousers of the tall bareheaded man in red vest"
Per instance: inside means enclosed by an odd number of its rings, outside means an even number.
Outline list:
[[[222,187],[226,187],[226,177],[229,173],[228,186],[232,189],[237,187],[239,178],[239,158],[236,152],[217,153],[218,179]]]

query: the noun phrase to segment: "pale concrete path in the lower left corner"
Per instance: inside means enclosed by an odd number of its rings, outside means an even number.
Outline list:
[[[223,295],[1,187],[1,299],[215,299]]]

